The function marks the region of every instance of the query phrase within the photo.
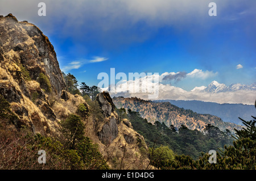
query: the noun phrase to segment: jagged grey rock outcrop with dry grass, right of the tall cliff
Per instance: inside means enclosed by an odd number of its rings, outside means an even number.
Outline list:
[[[115,105],[108,92],[98,94],[96,101],[100,104],[105,117],[104,120],[101,120],[102,126],[97,132],[98,140],[102,144],[101,148],[105,149],[107,156],[113,155],[130,165],[127,166],[127,169],[143,167],[144,163],[148,163],[147,158],[143,156],[147,150],[143,136],[134,131],[129,120],[121,119],[117,115]],[[143,162],[141,159],[144,159]],[[115,162],[109,164],[115,165]]]

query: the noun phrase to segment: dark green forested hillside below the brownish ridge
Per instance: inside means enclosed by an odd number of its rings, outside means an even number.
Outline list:
[[[181,125],[176,130],[173,125],[169,128],[159,121],[156,121],[154,125],[148,123],[138,112],[130,109],[127,114],[123,108],[117,112],[130,120],[135,131],[142,134],[148,147],[168,146],[175,154],[190,155],[193,159],[199,158],[202,151],[206,153],[209,150],[218,150],[218,148],[224,148],[224,145],[231,145],[233,141],[229,131],[221,132],[220,129],[210,124],[203,130],[203,133],[188,129],[185,125]]]

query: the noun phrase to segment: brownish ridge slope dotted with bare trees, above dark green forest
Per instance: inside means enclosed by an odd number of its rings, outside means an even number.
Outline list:
[[[139,112],[150,123],[155,121],[164,122],[168,127],[174,125],[175,128],[180,128],[181,125],[185,125],[189,129],[203,131],[207,124],[212,124],[221,131],[229,129],[233,132],[233,128],[241,129],[240,125],[225,123],[217,116],[184,110],[169,102],[152,102],[138,98],[123,97],[113,98],[113,102],[118,108],[130,108],[132,111]]]

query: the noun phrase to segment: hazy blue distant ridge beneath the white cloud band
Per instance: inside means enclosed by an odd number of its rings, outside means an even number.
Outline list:
[[[234,86],[231,86],[234,88]],[[223,121],[242,125],[242,121],[249,121],[251,116],[256,116],[256,109],[253,105],[244,104],[218,104],[213,102],[203,102],[200,100],[159,100],[158,102],[170,102],[177,107],[192,110],[197,113],[209,113],[220,117]]]

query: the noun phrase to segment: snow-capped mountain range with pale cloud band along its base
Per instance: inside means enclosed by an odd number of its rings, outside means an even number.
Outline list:
[[[146,78],[141,78],[145,81]],[[125,82],[126,83],[126,82]],[[125,84],[124,83],[124,84]],[[148,83],[148,82],[146,82]],[[133,81],[129,81],[129,85]],[[149,84],[150,85],[150,84]],[[123,86],[126,87],[126,86]],[[148,92],[125,92],[127,89],[118,89],[114,93],[110,92],[112,97],[123,96],[125,98],[137,97],[148,100],[150,93]],[[191,91],[186,91],[180,87],[175,87],[170,84],[159,83],[159,94],[154,100],[201,100],[204,102],[214,103],[229,103],[229,104],[249,104],[254,105],[256,99],[256,83],[251,85],[242,85],[241,83],[233,83],[226,86],[224,83],[217,81],[211,82],[207,87],[195,87]],[[153,100],[153,99],[151,99]]]

